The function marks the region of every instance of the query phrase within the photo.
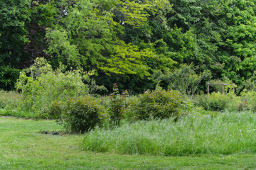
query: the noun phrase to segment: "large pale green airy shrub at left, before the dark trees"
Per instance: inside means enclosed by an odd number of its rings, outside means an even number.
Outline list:
[[[31,68],[21,72],[16,88],[23,94],[27,109],[37,110],[55,100],[87,94],[82,76],[87,77],[80,70],[53,71],[46,60],[38,58]]]

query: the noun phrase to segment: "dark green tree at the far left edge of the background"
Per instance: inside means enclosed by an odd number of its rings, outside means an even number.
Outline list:
[[[0,88],[11,89],[22,67],[23,47],[28,42],[26,22],[30,0],[0,1]],[[13,87],[13,86],[12,86]]]

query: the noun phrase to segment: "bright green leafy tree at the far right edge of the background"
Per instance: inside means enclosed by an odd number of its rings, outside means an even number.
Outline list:
[[[220,47],[223,76],[236,84],[252,76],[256,67],[255,1],[223,1],[223,20],[227,23]]]

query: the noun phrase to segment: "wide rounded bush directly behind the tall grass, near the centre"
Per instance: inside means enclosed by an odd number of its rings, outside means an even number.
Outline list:
[[[186,103],[178,91],[146,91],[131,101],[127,112],[135,120],[178,118],[184,106]]]

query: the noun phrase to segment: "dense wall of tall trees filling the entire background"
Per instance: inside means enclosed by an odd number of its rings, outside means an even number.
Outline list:
[[[0,88],[14,89],[18,72],[45,57],[53,69],[62,62],[68,71],[95,70],[97,84],[109,91],[117,83],[122,91],[142,93],[155,88],[155,72],[193,63],[196,74],[208,70],[213,79],[238,84],[240,92],[255,82],[255,4],[1,0]]]

